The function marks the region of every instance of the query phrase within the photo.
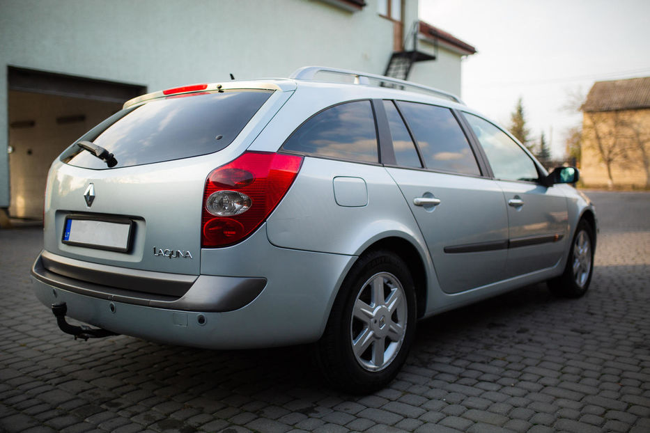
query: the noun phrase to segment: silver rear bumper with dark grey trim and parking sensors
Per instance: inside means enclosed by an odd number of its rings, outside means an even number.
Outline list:
[[[33,290],[47,307],[65,302],[68,317],[75,320],[158,343],[241,349],[318,340],[336,290],[355,257],[277,248],[268,243],[265,230],[258,230],[237,248],[241,249],[239,257],[262,255],[266,260],[256,260],[255,272],[228,267],[226,273],[254,276],[201,275],[180,297],[107,287],[58,274],[46,269],[44,257],[45,262],[67,263],[70,269],[83,262],[47,251],[34,263]],[[285,266],[279,267],[279,262]],[[61,271],[60,266],[56,270]],[[93,266],[86,263],[86,267]]]

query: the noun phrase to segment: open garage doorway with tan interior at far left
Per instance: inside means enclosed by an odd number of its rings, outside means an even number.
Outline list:
[[[9,216],[41,220],[52,161],[145,86],[9,68]]]

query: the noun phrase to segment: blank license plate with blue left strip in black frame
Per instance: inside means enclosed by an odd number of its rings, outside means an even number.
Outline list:
[[[68,245],[127,252],[131,246],[133,221],[68,216],[62,242]]]

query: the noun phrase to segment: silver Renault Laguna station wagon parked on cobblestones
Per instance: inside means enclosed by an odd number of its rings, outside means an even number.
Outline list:
[[[541,281],[585,293],[597,225],[577,180],[407,81],[307,67],[172,88],[54,161],[33,288],[75,337],[313,343],[333,386],[368,393],[423,317]]]

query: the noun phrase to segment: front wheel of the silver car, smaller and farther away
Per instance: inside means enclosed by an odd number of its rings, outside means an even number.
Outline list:
[[[564,273],[547,281],[549,290],[565,298],[578,298],[587,292],[594,272],[594,229],[584,219],[578,223]]]

